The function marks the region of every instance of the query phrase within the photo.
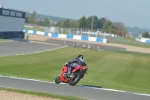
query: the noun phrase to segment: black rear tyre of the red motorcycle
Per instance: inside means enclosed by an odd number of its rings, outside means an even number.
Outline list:
[[[73,76],[74,77],[70,78],[70,80],[69,80],[69,84],[72,86],[76,85],[81,79],[80,73],[73,73]]]

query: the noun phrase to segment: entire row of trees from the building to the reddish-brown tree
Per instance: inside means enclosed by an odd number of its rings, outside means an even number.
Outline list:
[[[37,13],[34,11],[29,14],[26,12],[25,23],[37,24],[40,26],[56,26],[59,28],[79,28],[82,30],[90,31],[102,31],[105,33],[112,33],[122,37],[126,36],[127,31],[125,30],[125,25],[122,22],[112,22],[107,18],[98,18],[97,16],[85,17],[82,16],[79,20],[74,21],[66,19],[64,21],[59,21],[56,24],[50,23],[48,18],[39,19],[37,18]]]

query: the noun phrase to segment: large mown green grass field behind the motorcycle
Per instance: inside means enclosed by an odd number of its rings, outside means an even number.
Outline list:
[[[150,94],[150,54],[67,47],[0,57],[0,74],[54,81],[62,65],[79,54],[84,55],[89,67],[79,84]]]

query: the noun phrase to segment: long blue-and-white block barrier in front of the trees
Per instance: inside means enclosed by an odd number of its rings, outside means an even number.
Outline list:
[[[88,36],[80,36],[80,35],[71,35],[71,34],[57,34],[57,33],[48,33],[48,32],[41,32],[35,30],[23,30],[26,34],[38,34],[49,36],[53,38],[66,38],[66,39],[75,39],[75,40],[84,40],[84,41],[95,41],[95,42],[102,42],[107,43],[107,39],[103,38],[96,38],[96,37],[88,37]]]

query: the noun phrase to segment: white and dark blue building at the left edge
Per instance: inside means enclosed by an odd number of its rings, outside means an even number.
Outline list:
[[[24,38],[25,12],[0,6],[0,38]]]

